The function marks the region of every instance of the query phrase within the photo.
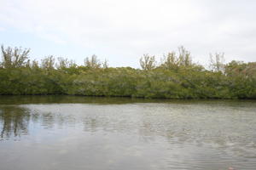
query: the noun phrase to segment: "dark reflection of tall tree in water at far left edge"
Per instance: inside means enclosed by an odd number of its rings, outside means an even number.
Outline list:
[[[29,111],[26,108],[4,105],[0,107],[0,125],[1,139],[9,138],[12,135],[20,136],[20,134],[28,133],[28,123],[30,120]],[[1,128],[0,127],[0,128]]]

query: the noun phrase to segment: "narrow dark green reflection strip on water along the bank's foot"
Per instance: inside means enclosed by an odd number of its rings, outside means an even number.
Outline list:
[[[239,107],[254,107],[255,100],[181,100],[181,99],[131,99],[108,97],[84,97],[71,95],[45,95],[45,96],[2,96],[0,105],[26,105],[26,104],[100,104],[124,105],[131,103],[172,103],[172,104],[213,104]]]

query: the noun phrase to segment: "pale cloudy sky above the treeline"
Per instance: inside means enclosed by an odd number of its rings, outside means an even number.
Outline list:
[[[209,54],[256,61],[255,0],[0,0],[0,44],[31,48],[31,59],[96,54],[110,66],[139,67],[143,54],[184,46],[195,62]]]

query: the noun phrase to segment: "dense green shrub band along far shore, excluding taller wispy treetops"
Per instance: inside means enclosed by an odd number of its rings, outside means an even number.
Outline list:
[[[0,69],[1,95],[68,94],[146,99],[256,99],[254,77],[221,72],[86,67]]]

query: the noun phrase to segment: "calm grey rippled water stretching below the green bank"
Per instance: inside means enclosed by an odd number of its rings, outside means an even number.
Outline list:
[[[1,170],[256,169],[256,101],[0,97]]]

